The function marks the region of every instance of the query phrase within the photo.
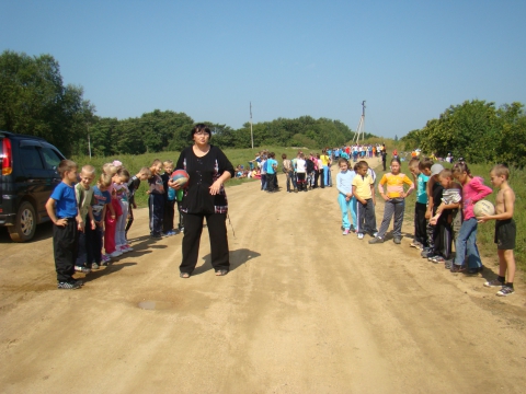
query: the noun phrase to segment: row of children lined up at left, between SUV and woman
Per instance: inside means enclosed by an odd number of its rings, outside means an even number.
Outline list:
[[[127,232],[134,221],[135,194],[141,181],[148,181],[150,235],[158,239],[184,231],[181,213],[178,229],[173,225],[174,206],[178,202],[179,207],[182,194],[170,179],[171,160],[164,163],[155,160],[150,167],[142,167],[132,177],[122,162],[106,163],[95,186],[92,186],[95,179],[92,165],[82,166],[79,175],[77,163],[62,160],[58,172],[61,183],[54,189],[46,210],[54,222],[53,245],[59,289],[80,288],[82,281],[73,279],[75,271],[89,274],[133,251]]]

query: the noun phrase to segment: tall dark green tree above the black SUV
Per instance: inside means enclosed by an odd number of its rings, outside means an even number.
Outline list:
[[[87,132],[94,107],[82,100],[82,88],[64,85],[60,67],[50,55],[0,55],[0,128],[45,137],[65,154],[73,152]]]

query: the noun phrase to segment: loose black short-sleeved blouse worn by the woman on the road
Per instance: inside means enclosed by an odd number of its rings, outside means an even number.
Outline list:
[[[179,157],[178,170],[186,170],[190,176],[181,210],[186,213],[227,213],[228,201],[225,186],[210,195],[209,187],[225,171],[233,177],[233,166],[222,151],[214,146],[204,157],[195,155],[192,147],[185,148]]]

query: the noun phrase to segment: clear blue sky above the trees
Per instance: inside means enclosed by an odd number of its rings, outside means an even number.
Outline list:
[[[0,0],[0,49],[50,54],[99,116],[404,136],[449,105],[526,104],[526,1]]]

